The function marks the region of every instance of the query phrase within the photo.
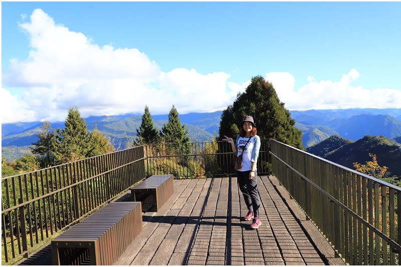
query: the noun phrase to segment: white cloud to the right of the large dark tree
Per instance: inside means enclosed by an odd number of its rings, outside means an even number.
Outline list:
[[[308,83],[295,90],[295,79],[290,73],[267,73],[280,100],[290,110],[337,108],[399,108],[401,92],[395,89],[368,90],[352,86],[359,78],[357,70],[343,74],[339,81],[316,81],[308,76]]]

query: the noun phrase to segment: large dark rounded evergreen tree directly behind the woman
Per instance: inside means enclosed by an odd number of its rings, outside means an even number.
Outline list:
[[[254,117],[261,139],[271,138],[304,149],[302,132],[294,126],[295,120],[278,98],[273,85],[262,76],[253,77],[245,92],[239,93],[233,105],[223,111],[220,139],[223,136],[235,138],[239,132],[239,123],[246,115]]]

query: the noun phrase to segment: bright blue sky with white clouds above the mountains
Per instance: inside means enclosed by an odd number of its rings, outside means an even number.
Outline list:
[[[222,110],[262,75],[290,110],[401,108],[401,3],[2,2],[2,123]]]

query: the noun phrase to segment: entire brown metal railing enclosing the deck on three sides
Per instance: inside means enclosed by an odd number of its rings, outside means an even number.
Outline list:
[[[3,258],[10,262],[28,256],[38,244],[144,177],[235,176],[233,165],[226,142],[163,144],[2,178]],[[271,171],[346,262],[399,262],[401,188],[280,142],[261,140],[258,173]]]

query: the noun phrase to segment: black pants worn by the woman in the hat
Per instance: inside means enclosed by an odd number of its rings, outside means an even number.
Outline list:
[[[259,217],[258,174],[255,172],[255,177],[251,180],[249,179],[250,172],[237,171],[237,181],[248,209],[253,210],[255,217]]]

